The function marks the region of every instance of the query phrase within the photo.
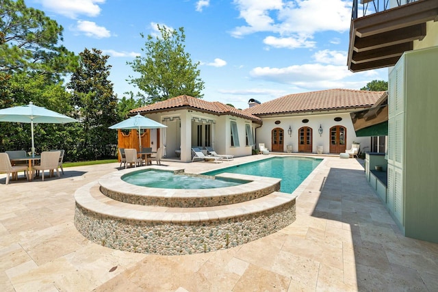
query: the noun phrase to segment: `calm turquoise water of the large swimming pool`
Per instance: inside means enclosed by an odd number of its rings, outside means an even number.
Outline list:
[[[222,168],[212,172],[204,172],[203,174],[216,175],[230,172],[234,174],[281,178],[280,191],[292,194],[321,161],[322,159],[310,157],[272,157],[261,161],[253,161],[229,168]]]

